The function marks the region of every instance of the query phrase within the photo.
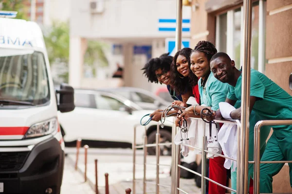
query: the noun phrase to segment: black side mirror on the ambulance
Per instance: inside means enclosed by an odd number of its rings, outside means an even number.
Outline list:
[[[61,84],[60,89],[56,90],[59,94],[58,110],[60,112],[70,112],[74,110],[74,89],[68,84]]]

